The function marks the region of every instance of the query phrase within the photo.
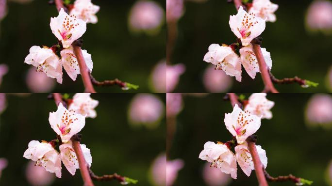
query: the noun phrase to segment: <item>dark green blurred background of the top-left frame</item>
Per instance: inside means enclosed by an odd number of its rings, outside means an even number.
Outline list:
[[[154,0],[165,9],[165,0]],[[166,56],[166,27],[159,34],[133,34],[128,28],[128,15],[136,0],[93,0],[100,6],[98,23],[87,24],[83,34],[83,49],[92,56],[92,75],[97,80],[119,78],[140,88],[130,92],[151,92],[149,74],[153,66]],[[1,21],[0,63],[9,65],[0,92],[27,93],[26,72],[32,65],[24,63],[29,48],[57,44],[50,30],[50,17],[57,16],[54,5],[48,0],[31,3],[8,3],[8,15]],[[53,92],[82,92],[82,78],[72,81],[65,75],[63,84]],[[96,87],[97,92],[123,92],[119,87]]]

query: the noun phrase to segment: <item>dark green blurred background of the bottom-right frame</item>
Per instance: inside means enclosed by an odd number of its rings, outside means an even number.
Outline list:
[[[206,161],[199,153],[207,141],[232,140],[224,124],[225,113],[232,112],[225,94],[215,93],[205,97],[184,97],[183,111],[177,117],[177,130],[172,141],[169,159],[181,158],[184,167],[179,171],[174,186],[203,186],[202,170]],[[248,98],[250,94],[245,94]],[[304,124],[304,109],[313,94],[268,94],[274,101],[273,118],[262,120],[257,131],[257,145],[266,150],[266,170],[272,176],[293,175],[313,180],[313,186],[326,186],[325,171],[332,159],[331,130],[321,127],[308,129]],[[238,167],[237,180],[230,186],[257,186],[255,172],[247,177]],[[270,186],[295,186],[295,184],[269,183]]]

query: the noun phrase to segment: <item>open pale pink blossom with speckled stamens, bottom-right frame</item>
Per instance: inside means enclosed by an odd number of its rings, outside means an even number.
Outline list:
[[[236,137],[237,143],[242,144],[261,126],[261,118],[243,111],[235,104],[232,113],[225,114],[226,128]]]

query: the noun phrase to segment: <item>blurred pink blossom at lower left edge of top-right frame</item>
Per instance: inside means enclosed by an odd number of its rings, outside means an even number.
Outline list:
[[[167,65],[166,67],[166,91],[172,92],[178,85],[180,76],[184,73],[185,66],[183,64]]]

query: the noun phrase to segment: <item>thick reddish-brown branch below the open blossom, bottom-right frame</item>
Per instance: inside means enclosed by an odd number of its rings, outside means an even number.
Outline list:
[[[266,181],[266,177],[264,174],[264,166],[261,162],[261,159],[259,158],[257,149],[256,149],[256,136],[249,136],[247,138],[247,142],[248,142],[248,148],[254,163],[254,167],[255,167],[255,172],[256,172],[256,177],[259,183],[259,186],[268,186],[267,181]]]

